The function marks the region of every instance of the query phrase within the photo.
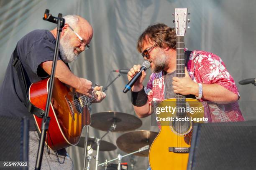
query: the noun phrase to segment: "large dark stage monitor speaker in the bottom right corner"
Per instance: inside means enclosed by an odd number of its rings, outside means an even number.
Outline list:
[[[256,121],[193,126],[187,170],[256,169]]]

